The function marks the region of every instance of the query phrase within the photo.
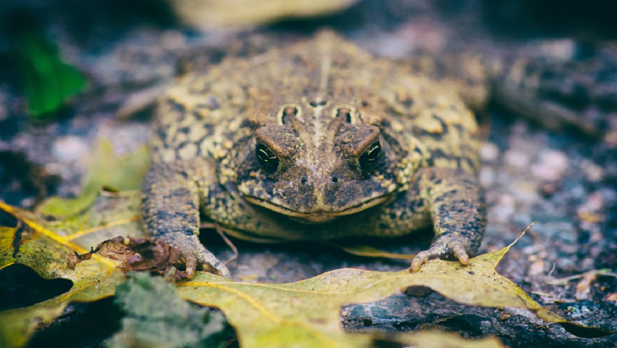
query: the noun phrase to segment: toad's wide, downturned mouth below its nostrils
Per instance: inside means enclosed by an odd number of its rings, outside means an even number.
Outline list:
[[[360,202],[360,204],[351,205],[349,207],[344,207],[338,210],[315,209],[308,212],[300,212],[297,210],[293,210],[289,207],[284,207],[283,205],[279,205],[259,197],[244,196],[244,199],[246,199],[246,201],[251,204],[259,205],[260,207],[267,208],[269,210],[272,210],[273,212],[281,213],[283,215],[288,215],[289,217],[301,218],[302,220],[305,220],[309,223],[321,223],[334,220],[335,218],[344,215],[362,212],[362,210],[374,207],[375,205],[385,202],[388,197],[388,195],[373,197],[366,201]]]

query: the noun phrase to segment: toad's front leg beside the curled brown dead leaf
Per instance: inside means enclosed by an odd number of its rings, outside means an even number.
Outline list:
[[[199,184],[181,165],[155,163],[141,186],[141,218],[147,233],[180,250],[186,276],[197,269],[227,278],[230,272],[199,242]]]

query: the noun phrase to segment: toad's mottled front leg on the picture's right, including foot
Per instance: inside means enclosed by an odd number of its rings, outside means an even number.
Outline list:
[[[420,196],[429,205],[435,238],[419,252],[410,270],[431,259],[458,259],[469,263],[480,246],[486,225],[486,207],[478,178],[455,168],[422,168],[416,173]]]

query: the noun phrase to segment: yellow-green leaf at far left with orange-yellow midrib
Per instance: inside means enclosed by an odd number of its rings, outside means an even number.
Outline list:
[[[90,169],[84,194],[78,199],[51,199],[46,203],[48,213],[13,207],[0,201],[0,209],[13,215],[17,228],[0,228],[0,269],[14,263],[26,265],[46,279],[64,278],[73,282],[72,288],[60,296],[22,309],[0,312],[0,347],[23,346],[38,323],[49,323],[62,313],[70,302],[91,302],[113,296],[117,284],[125,275],[116,270],[117,261],[92,255],[77,270],[67,268],[68,254],[85,254],[105,239],[118,235],[142,237],[139,222],[140,197],[133,194],[100,196],[98,188],[105,184],[131,186],[140,180],[146,162],[146,152],[118,157],[110,152],[109,143],[99,145]],[[107,158],[102,158],[107,156]],[[145,158],[139,158],[139,157]],[[102,167],[103,163],[109,167]],[[126,163],[126,162],[133,163]],[[146,167],[147,168],[147,167]],[[95,171],[106,173],[92,173]],[[124,184],[119,178],[124,178]],[[111,179],[111,182],[107,180]],[[118,181],[114,181],[118,180]],[[87,203],[86,203],[87,202]],[[60,212],[61,216],[51,215]],[[67,213],[70,212],[70,213]]]

